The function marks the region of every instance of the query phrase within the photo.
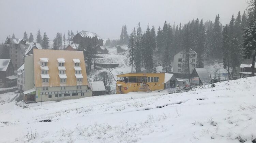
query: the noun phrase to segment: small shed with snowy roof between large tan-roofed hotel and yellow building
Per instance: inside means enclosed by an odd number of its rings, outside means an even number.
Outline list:
[[[92,96],[105,95],[106,88],[103,81],[90,82]]]

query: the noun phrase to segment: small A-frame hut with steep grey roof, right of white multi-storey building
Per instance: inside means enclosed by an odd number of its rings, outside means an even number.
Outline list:
[[[206,68],[194,68],[190,79],[191,85],[207,84],[210,82]]]

